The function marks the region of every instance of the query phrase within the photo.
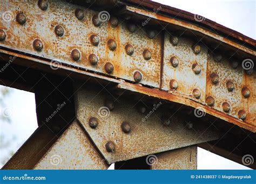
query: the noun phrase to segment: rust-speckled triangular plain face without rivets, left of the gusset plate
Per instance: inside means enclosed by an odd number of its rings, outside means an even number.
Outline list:
[[[61,135],[33,169],[107,169],[76,121]]]

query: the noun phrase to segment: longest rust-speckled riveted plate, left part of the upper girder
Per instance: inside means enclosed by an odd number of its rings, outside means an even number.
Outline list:
[[[49,1],[48,9],[44,11],[38,8],[37,1],[1,2],[1,15],[6,16],[7,20],[1,19],[0,29],[6,32],[6,38],[0,42],[0,46],[43,57],[52,62],[60,62],[63,65],[104,74],[108,74],[104,65],[110,62],[114,67],[111,76],[134,81],[133,74],[139,71],[142,73],[140,83],[159,87],[160,35],[150,39],[145,30],[137,28],[137,31],[130,32],[127,29],[127,22],[123,19],[119,19],[120,24],[116,28],[107,21],[97,27],[93,24],[92,17],[98,16],[98,12],[66,1]],[[78,8],[84,12],[82,20],[75,16]],[[19,12],[23,12],[26,17],[23,25],[15,20]],[[106,13],[105,15],[108,16]],[[57,25],[63,27],[63,36],[56,35]],[[91,35],[99,37],[98,46],[92,45]],[[35,39],[42,41],[41,51],[33,47]],[[114,51],[107,45],[110,39],[117,44]],[[126,44],[134,48],[131,56],[126,54]],[[80,59],[77,61],[71,58],[73,49],[80,52]],[[152,53],[149,60],[143,57],[145,49]],[[89,62],[92,53],[98,57],[96,65],[91,65]]]

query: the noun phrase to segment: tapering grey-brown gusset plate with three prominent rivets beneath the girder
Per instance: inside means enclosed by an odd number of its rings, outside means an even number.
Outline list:
[[[164,126],[161,121],[164,109],[160,103],[142,114],[136,108],[138,101],[121,96],[114,102],[113,110],[109,111],[105,100],[111,97],[110,94],[102,88],[87,86],[77,92],[76,105],[77,119],[109,163],[194,145],[220,136],[212,127],[201,124],[187,130],[186,117],[174,112],[168,113],[171,124]],[[89,125],[91,117],[98,119],[96,128]],[[122,131],[124,121],[130,123],[130,133]],[[106,151],[105,145],[109,141],[115,145],[113,153]]]

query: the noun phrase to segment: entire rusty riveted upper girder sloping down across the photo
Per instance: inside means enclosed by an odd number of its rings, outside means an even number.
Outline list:
[[[43,65],[39,69],[48,71],[45,65],[53,69],[57,65],[113,81],[118,88],[200,107],[256,131],[256,74],[253,67],[244,65],[248,61],[254,65],[255,40],[230,33],[237,39],[234,42],[224,36],[223,28],[218,28],[222,31],[218,35],[202,28],[204,22],[171,18],[166,7],[154,13],[152,7],[157,4],[142,9],[134,5],[136,1],[111,1],[122,8],[100,20],[103,11],[66,1],[42,2],[1,0],[0,52],[4,60],[4,54],[17,55],[29,62],[17,59],[13,63],[37,69]],[[108,16],[109,12],[104,13]],[[152,18],[147,28],[138,24],[145,17]],[[164,26],[157,28],[159,23]]]

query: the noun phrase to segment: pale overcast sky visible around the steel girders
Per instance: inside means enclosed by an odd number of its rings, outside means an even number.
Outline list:
[[[186,10],[239,31],[255,39],[255,1],[156,1]],[[12,116],[11,124],[0,122],[0,136],[10,141],[8,149],[0,145],[0,161],[8,157],[10,151],[17,151],[23,142],[37,128],[35,96],[33,93],[12,90],[4,100]],[[0,163],[0,168],[2,163]],[[111,167],[113,168],[113,166]],[[198,148],[198,169],[249,169],[221,156]]]

